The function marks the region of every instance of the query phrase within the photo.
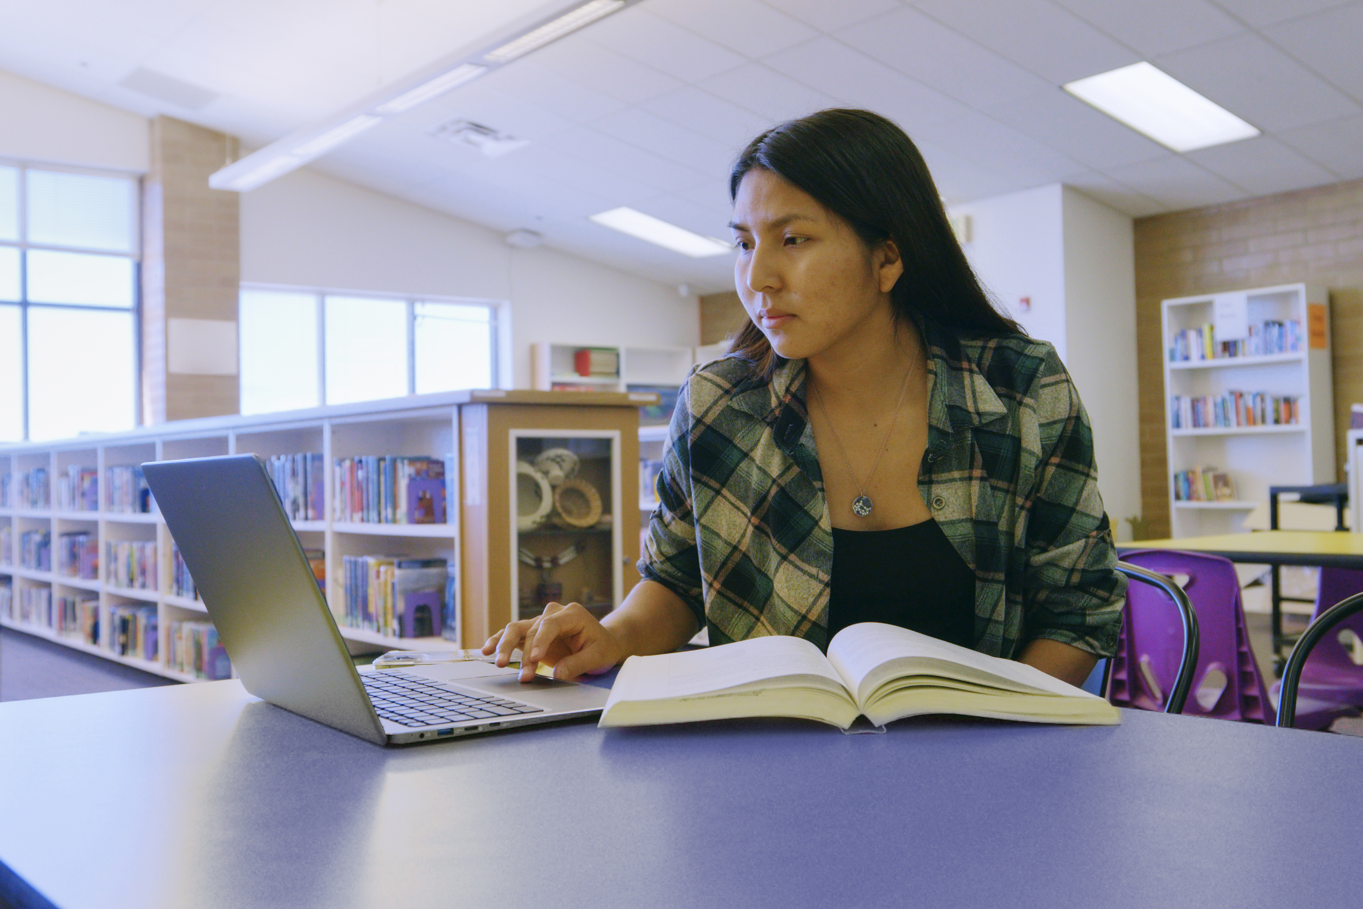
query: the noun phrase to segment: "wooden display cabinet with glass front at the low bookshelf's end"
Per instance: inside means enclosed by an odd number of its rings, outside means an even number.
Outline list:
[[[465,646],[537,615],[551,593],[585,597],[605,615],[639,581],[639,406],[656,402],[645,392],[476,391],[459,406]],[[581,484],[560,491],[551,465],[532,473],[553,448],[571,454],[559,457]],[[545,495],[556,504],[542,507]],[[596,500],[600,515],[586,525]],[[548,564],[555,556],[568,557]]]

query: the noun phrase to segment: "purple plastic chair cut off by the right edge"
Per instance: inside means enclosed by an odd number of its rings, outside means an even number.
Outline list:
[[[1311,623],[1356,593],[1363,593],[1363,571],[1321,568]],[[1353,641],[1363,642],[1363,613],[1341,620],[1306,657],[1292,724],[1298,729],[1326,729],[1336,718],[1356,715],[1363,707],[1363,665],[1353,662]],[[1274,703],[1281,685],[1276,681],[1270,690]]]

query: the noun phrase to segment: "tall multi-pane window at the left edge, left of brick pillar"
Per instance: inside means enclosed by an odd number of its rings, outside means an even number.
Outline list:
[[[0,442],[136,424],[138,181],[0,165]]]

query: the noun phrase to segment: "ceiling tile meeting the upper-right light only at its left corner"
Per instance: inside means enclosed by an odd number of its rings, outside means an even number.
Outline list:
[[[976,108],[1033,94],[1050,84],[917,10],[887,12],[842,29],[836,37]]]

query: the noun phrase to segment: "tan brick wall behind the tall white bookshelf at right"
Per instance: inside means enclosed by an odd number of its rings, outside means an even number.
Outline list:
[[[1153,533],[1169,529],[1160,301],[1293,282],[1330,292],[1343,481],[1349,405],[1363,402],[1363,180],[1137,219],[1141,502]]]

